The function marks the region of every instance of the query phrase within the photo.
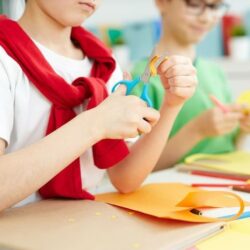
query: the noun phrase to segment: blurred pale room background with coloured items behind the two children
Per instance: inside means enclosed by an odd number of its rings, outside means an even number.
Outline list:
[[[225,70],[235,97],[250,86],[250,1],[227,0],[230,11],[198,46],[198,55]],[[22,14],[24,0],[0,0],[0,11],[13,19]],[[154,0],[102,0],[85,24],[102,39],[124,70],[148,56],[160,37]]]

